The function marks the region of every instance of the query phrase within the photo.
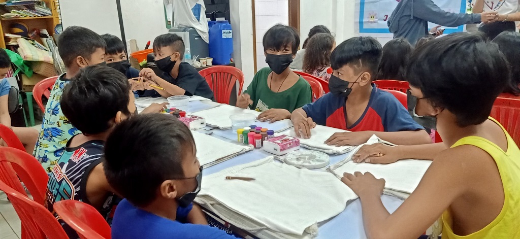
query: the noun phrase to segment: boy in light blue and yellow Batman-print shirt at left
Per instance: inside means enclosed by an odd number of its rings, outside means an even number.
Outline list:
[[[42,120],[42,130],[33,152],[49,173],[63,154],[68,139],[79,133],[61,112],[60,99],[63,88],[81,68],[96,64],[106,65],[103,59],[105,48],[106,43],[101,36],[81,26],[70,26],[60,35],[58,51],[67,73],[57,79],[50,91]]]

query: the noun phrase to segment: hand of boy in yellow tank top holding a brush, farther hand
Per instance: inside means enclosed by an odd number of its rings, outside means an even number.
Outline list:
[[[400,160],[397,147],[374,143],[363,145],[352,156],[354,163],[391,164]]]

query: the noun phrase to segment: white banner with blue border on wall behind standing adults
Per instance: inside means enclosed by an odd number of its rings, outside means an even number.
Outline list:
[[[356,0],[356,29],[362,35],[392,34],[388,30],[388,18],[400,1],[410,0]],[[441,9],[449,12],[466,12],[466,0],[433,0]],[[436,26],[428,23],[429,28]],[[444,33],[462,32],[464,25],[457,28],[443,26]]]

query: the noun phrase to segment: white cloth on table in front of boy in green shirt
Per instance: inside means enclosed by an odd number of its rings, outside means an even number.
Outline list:
[[[193,113],[192,115],[205,118],[206,125],[208,126],[227,130],[231,129],[231,120],[229,119],[229,116],[236,114],[254,114],[256,117],[260,114],[260,112],[248,109],[241,109],[238,107],[231,106],[229,104],[222,104],[219,107],[199,111]]]

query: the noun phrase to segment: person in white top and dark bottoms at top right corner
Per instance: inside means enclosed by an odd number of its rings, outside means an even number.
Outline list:
[[[486,33],[490,40],[495,39],[501,32],[516,31],[515,21],[520,21],[520,12],[518,12],[519,6],[520,0],[476,0],[473,6],[474,13],[498,12],[495,21],[479,26],[478,30]]]

